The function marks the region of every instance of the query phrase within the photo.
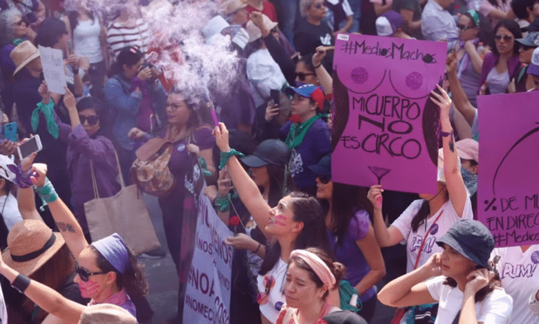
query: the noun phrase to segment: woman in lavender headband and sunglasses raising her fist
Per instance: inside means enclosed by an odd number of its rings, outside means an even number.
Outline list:
[[[75,256],[75,282],[79,285],[81,296],[91,298],[89,305],[118,305],[146,323],[152,313],[144,298],[148,292],[148,283],[133,252],[116,233],[88,245],[77,219],[59,199],[52,183],[46,178],[46,169],[47,166],[43,164],[32,165],[35,176],[30,179],[41,199],[47,203],[60,234]],[[19,190],[31,192],[32,188]],[[21,203],[26,206],[26,210],[35,208],[34,201],[30,199],[19,201],[19,205]],[[144,306],[138,312],[132,298],[138,305]]]

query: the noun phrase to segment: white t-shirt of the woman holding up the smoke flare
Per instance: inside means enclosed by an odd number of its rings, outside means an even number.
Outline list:
[[[281,307],[285,303],[285,276],[287,269],[288,264],[283,261],[283,259],[279,258],[279,261],[272,270],[269,270],[264,276],[258,275],[256,277],[258,292],[265,292],[266,290],[266,287],[264,286],[265,276],[273,276],[275,279],[275,285],[269,290],[269,299],[267,303],[260,305],[260,312],[271,323],[277,321],[279,312],[281,312]]]

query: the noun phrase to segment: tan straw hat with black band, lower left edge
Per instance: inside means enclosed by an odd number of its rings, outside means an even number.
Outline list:
[[[52,258],[64,243],[62,235],[53,233],[42,221],[26,219],[10,230],[8,248],[2,253],[2,259],[12,269],[30,276]]]

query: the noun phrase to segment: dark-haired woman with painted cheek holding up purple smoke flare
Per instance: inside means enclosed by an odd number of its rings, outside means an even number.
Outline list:
[[[262,323],[275,323],[285,303],[285,274],[292,250],[321,247],[329,251],[323,210],[316,199],[302,192],[292,192],[281,199],[276,207],[270,207],[256,183],[240,164],[237,156],[243,154],[229,147],[225,124],[219,123],[214,128],[214,136],[221,151],[220,168],[227,166],[241,201],[262,233],[272,239],[257,277],[257,299]],[[330,292],[336,293],[337,290]]]

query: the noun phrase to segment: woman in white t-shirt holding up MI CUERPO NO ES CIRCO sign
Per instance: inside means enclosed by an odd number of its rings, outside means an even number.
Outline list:
[[[431,99],[440,107],[443,148],[438,155],[436,194],[419,194],[393,224],[386,227],[381,210],[381,185],[373,185],[368,199],[374,205],[375,236],[381,247],[397,245],[406,241],[406,272],[412,272],[435,253],[442,252],[436,240],[460,219],[472,219],[471,201],[460,173],[455,139],[449,121],[451,99],[438,85]],[[442,159],[442,160],[441,160]]]

